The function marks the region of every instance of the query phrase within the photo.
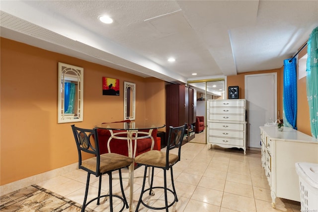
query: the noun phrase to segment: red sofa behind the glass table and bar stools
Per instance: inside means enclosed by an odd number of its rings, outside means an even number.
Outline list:
[[[154,141],[155,141],[154,149],[160,150],[160,138],[157,139],[157,131],[158,131],[157,129],[154,129],[152,132],[152,136],[153,136]],[[116,133],[116,132],[120,132],[120,131],[114,131],[114,133]],[[108,153],[107,141],[110,138],[109,130],[97,129],[97,135],[98,135],[100,154]],[[125,137],[125,134],[124,135],[117,135],[117,136]],[[159,142],[159,144],[158,144],[158,142]],[[133,141],[133,146],[134,146],[134,144],[135,143]],[[151,148],[151,144],[152,144],[151,138],[139,139],[137,141],[136,156],[140,155],[146,151],[149,151]],[[109,146],[110,146],[111,152],[128,156],[128,142],[127,142],[127,140],[112,139],[110,141]]]

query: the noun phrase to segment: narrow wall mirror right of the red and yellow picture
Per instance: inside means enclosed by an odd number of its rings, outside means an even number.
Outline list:
[[[124,120],[135,120],[136,84],[124,82]]]

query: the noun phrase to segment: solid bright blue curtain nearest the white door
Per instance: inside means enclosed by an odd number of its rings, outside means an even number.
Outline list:
[[[297,118],[297,71],[296,58],[284,60],[283,83],[284,126],[296,128]]]

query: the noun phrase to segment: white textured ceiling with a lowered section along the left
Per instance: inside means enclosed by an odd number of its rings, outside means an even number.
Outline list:
[[[0,6],[2,37],[178,82],[281,68],[318,26],[317,0],[1,0]],[[99,22],[101,14],[114,23]]]

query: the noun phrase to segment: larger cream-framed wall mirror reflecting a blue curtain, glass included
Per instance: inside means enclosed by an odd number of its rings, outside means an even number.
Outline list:
[[[83,68],[59,63],[58,123],[83,121]]]

